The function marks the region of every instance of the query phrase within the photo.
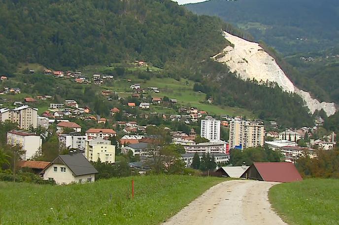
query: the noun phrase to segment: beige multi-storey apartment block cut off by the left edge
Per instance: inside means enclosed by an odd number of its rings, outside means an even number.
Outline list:
[[[30,106],[20,106],[15,109],[0,109],[1,121],[10,120],[17,123],[19,129],[28,130],[37,126],[37,109]]]

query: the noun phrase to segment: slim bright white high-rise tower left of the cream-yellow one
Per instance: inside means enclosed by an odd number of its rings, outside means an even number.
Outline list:
[[[200,136],[209,141],[220,141],[220,120],[212,116],[202,119]]]

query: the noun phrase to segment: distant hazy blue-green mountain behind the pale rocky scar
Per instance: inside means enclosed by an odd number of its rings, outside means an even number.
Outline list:
[[[339,41],[338,0],[211,0],[186,7],[219,16],[283,55],[322,50]]]

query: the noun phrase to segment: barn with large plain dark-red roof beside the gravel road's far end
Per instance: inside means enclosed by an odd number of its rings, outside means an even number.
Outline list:
[[[240,177],[282,183],[303,180],[293,163],[253,163]]]

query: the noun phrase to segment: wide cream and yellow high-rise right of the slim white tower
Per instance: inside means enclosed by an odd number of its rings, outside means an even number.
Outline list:
[[[230,121],[230,149],[263,146],[264,133],[261,122],[233,119]]]

